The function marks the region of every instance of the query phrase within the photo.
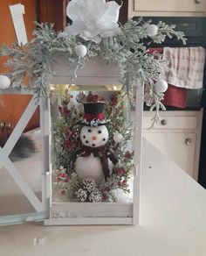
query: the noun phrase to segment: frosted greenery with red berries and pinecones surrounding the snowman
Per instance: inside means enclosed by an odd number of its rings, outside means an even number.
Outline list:
[[[110,124],[106,125],[110,135],[117,130],[122,134],[120,144],[107,142],[108,150],[113,152],[118,163],[113,166],[113,174],[106,181],[94,182],[92,179],[81,179],[75,172],[75,162],[82,147],[80,125],[75,125],[84,115],[81,103],[75,103],[71,92],[65,90],[62,103],[58,106],[60,116],[56,119],[53,133],[53,188],[54,201],[75,200],[80,202],[99,202],[117,200],[117,191],[129,193],[129,180],[134,168],[134,152],[128,150],[128,141],[133,138],[133,124],[128,122],[127,96],[123,91],[113,92],[104,108],[104,117]],[[60,193],[59,193],[60,192]]]

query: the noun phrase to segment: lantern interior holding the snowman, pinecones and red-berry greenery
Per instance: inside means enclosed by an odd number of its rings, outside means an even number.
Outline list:
[[[72,210],[76,203],[132,205],[134,111],[117,84],[52,85],[52,217],[113,215]]]

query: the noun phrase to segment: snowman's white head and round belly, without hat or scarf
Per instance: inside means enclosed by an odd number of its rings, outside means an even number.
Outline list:
[[[83,126],[80,132],[80,140],[84,146],[98,148],[105,146],[108,141],[108,130],[106,125]],[[111,162],[109,163],[111,167]],[[94,157],[93,153],[89,156],[78,156],[76,160],[76,172],[80,178],[93,178],[100,181],[104,178],[100,157]]]

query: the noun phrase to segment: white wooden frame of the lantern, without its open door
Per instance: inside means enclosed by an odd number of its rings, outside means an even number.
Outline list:
[[[55,74],[52,80],[54,84],[66,84],[71,79],[66,65],[61,62],[58,63]],[[81,85],[119,84],[119,78],[119,68],[94,59],[90,60],[86,67],[79,71],[75,83]],[[51,200],[50,218],[44,221],[45,225],[136,224],[139,222],[142,113],[143,85],[140,84],[136,90],[133,203],[54,203]],[[52,189],[52,186],[50,188]],[[50,194],[52,195],[52,190]]]

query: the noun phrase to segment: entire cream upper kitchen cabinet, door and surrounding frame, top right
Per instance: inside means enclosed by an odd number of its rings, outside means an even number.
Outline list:
[[[128,17],[134,16],[206,16],[204,0],[129,0]]]

